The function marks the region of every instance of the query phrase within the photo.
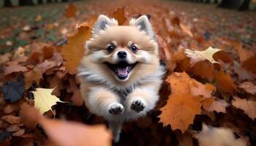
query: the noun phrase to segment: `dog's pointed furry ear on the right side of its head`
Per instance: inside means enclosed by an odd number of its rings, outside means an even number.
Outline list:
[[[132,18],[132,20],[129,20],[129,25],[139,28],[140,31],[145,32],[151,39],[156,39],[154,30],[146,15],[142,15],[137,19]]]

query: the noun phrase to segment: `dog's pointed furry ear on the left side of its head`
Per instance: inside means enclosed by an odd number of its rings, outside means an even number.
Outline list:
[[[94,23],[92,34],[99,34],[100,31],[104,31],[109,26],[118,26],[117,20],[108,18],[106,15],[99,15],[97,21]]]

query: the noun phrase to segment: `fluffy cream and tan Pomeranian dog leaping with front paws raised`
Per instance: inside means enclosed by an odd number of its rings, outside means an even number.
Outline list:
[[[146,15],[129,26],[99,15],[80,63],[80,93],[89,110],[108,120],[118,142],[124,121],[152,110],[159,99],[162,75],[159,50]]]

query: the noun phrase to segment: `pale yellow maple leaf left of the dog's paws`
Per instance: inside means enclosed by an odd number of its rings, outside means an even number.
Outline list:
[[[36,88],[36,91],[31,91],[34,94],[34,106],[41,114],[44,114],[48,110],[53,112],[51,109],[53,105],[55,105],[57,102],[64,102],[51,94],[53,90],[54,88]]]

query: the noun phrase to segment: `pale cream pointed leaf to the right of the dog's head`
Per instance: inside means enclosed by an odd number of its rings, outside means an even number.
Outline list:
[[[195,64],[198,61],[208,60],[212,64],[220,64],[219,62],[215,61],[213,58],[214,53],[219,52],[221,49],[208,47],[206,50],[199,51],[199,50],[189,50],[185,49],[185,53],[187,53],[187,57],[190,58],[190,64]]]

